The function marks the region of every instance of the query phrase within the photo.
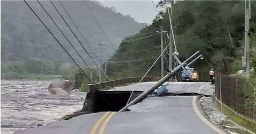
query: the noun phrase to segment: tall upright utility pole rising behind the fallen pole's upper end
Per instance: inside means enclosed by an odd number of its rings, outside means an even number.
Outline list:
[[[169,46],[169,70],[172,70],[172,48],[173,48],[173,42],[172,42],[172,31],[171,31],[171,27],[172,27],[172,7],[173,7],[173,0],[170,1],[170,35],[169,35],[169,41],[170,41],[170,46]]]

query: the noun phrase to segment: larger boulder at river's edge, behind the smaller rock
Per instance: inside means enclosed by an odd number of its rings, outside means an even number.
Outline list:
[[[65,92],[69,93],[73,89],[77,88],[77,83],[75,81],[69,80],[54,80],[48,86],[48,91],[51,93],[51,89],[62,89]]]

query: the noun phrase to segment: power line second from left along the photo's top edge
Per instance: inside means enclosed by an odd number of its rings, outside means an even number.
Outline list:
[[[83,63],[88,67],[88,69],[92,72],[92,70],[89,68],[88,64],[84,61],[84,59],[81,57],[81,55],[78,53],[78,51],[74,48],[74,46],[71,44],[71,42],[67,39],[67,37],[65,36],[65,34],[62,32],[62,30],[58,27],[58,25],[55,23],[55,21],[52,19],[52,17],[50,16],[50,14],[46,11],[46,9],[43,7],[43,5],[39,2],[39,0],[37,0],[37,2],[40,4],[40,6],[42,7],[42,9],[45,11],[45,13],[49,16],[49,18],[51,19],[51,21],[55,24],[55,26],[58,28],[58,30],[61,32],[61,34],[65,37],[65,39],[67,40],[67,42],[71,45],[71,47],[74,49],[74,51],[78,54],[78,56],[81,58],[81,60],[83,61]],[[92,74],[97,77],[93,72]]]

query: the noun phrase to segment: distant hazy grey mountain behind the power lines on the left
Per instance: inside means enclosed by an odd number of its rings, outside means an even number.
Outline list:
[[[67,44],[67,41],[39,6],[38,2],[27,2],[39,15],[42,21],[46,23],[49,29],[53,31],[53,34],[56,35],[64,47],[67,48],[69,53],[81,63],[81,60],[78,60],[78,56],[69,44]],[[88,61],[85,52],[82,50],[81,46],[79,46],[78,42],[75,40],[74,36],[57,14],[51,3],[49,1],[40,2],[49,14],[52,15],[53,19],[67,35],[68,39]],[[113,7],[103,7],[97,1],[86,2],[109,40],[112,42],[114,48],[118,47],[120,40],[123,37],[134,34],[145,26],[145,24],[134,21],[134,19],[128,15],[122,15],[121,13],[116,12]],[[85,41],[81,38],[77,30],[75,30],[75,27],[72,25],[59,1],[53,1],[53,3],[74,30],[85,48],[90,52],[90,49],[88,49]],[[100,30],[85,2],[61,1],[61,3],[94,51],[98,53],[98,45],[96,42],[106,42],[106,44],[102,46],[104,50],[102,54],[106,57],[111,56],[114,53],[114,50]],[[20,61],[28,58],[71,61],[23,1],[1,1],[1,61]]]

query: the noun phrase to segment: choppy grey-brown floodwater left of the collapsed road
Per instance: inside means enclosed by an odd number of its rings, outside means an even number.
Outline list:
[[[86,93],[50,95],[50,80],[1,80],[1,134],[44,126],[82,109]]]

